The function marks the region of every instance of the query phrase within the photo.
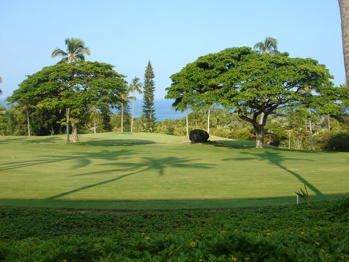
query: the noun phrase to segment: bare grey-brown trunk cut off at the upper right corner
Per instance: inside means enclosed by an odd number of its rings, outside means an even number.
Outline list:
[[[346,69],[346,79],[349,97],[349,1],[338,0],[341,11],[341,25],[342,25],[342,42],[343,42],[343,56],[344,67]]]

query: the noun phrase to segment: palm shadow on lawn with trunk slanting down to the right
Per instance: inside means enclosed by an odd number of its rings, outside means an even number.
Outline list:
[[[241,158],[226,158],[222,159],[223,161],[230,161],[230,160],[237,160],[237,161],[246,161],[246,160],[267,160],[269,163],[287,171],[288,173],[295,176],[299,181],[301,181],[303,184],[307,185],[314,193],[316,193],[318,196],[323,195],[323,193],[320,192],[319,189],[317,189],[315,186],[313,186],[311,183],[309,183],[307,180],[305,180],[301,175],[297,174],[296,172],[289,170],[285,166],[282,165],[282,162],[285,160],[300,160],[300,161],[314,161],[310,159],[299,159],[299,158],[287,158],[282,155],[282,153],[277,152],[268,152],[264,151],[261,153],[252,153],[252,152],[241,152],[240,154],[248,154],[256,157],[241,157]]]

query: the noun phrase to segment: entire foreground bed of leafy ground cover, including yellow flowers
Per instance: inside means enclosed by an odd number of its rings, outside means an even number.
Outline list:
[[[4,207],[0,260],[347,261],[348,212],[349,198],[310,206],[123,215]]]

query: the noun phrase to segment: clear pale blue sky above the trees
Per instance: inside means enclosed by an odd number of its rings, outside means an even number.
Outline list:
[[[143,81],[149,60],[156,98],[187,63],[269,35],[290,57],[326,64],[345,82],[337,0],[0,0],[0,99],[26,77],[57,63],[64,39],[85,41],[86,60],[110,63]]]

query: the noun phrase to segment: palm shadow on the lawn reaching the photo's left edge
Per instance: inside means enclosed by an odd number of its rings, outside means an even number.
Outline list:
[[[36,165],[42,165],[42,164],[63,162],[67,160],[72,160],[75,162],[72,168],[81,168],[81,167],[88,166],[91,163],[92,159],[103,159],[103,160],[115,161],[120,157],[133,156],[136,154],[140,154],[140,152],[136,150],[130,150],[127,148],[122,150],[117,150],[117,151],[101,150],[99,152],[72,152],[72,153],[69,153],[68,155],[63,155],[63,156],[42,156],[40,158],[27,160],[27,161],[4,163],[1,165],[2,167],[0,167],[0,171],[17,169],[17,168],[25,168],[29,166],[36,166]],[[142,154],[144,153],[142,152]]]

